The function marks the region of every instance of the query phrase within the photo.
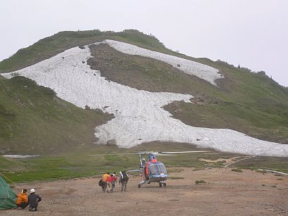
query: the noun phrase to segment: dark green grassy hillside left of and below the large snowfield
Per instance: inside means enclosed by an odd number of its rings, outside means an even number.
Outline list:
[[[25,77],[1,79],[0,89],[2,154],[55,153],[89,145],[96,140],[96,125],[111,117],[77,108]]]

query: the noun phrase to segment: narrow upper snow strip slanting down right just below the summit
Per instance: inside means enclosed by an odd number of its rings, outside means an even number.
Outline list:
[[[122,53],[155,58],[158,61],[168,63],[169,65],[174,66],[174,68],[182,70],[183,72],[188,73],[189,75],[195,75],[214,85],[216,85],[215,82],[216,79],[224,77],[223,75],[218,74],[217,69],[212,68],[208,65],[203,65],[202,63],[197,63],[195,61],[190,61],[185,58],[179,58],[176,56],[170,56],[156,51],[150,51],[148,49],[143,49],[132,44],[126,44],[124,42],[118,42],[109,39],[106,39],[105,42],[109,44],[109,46],[111,46],[112,48]],[[178,65],[180,65],[180,67],[178,67]]]

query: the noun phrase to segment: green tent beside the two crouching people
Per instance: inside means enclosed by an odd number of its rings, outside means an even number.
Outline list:
[[[17,195],[0,175],[0,210],[15,208]]]

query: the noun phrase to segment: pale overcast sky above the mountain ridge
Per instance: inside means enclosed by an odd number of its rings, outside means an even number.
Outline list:
[[[169,49],[258,71],[288,87],[287,0],[0,0],[0,61],[64,30],[136,29]]]

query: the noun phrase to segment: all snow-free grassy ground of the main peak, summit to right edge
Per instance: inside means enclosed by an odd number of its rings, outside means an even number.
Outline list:
[[[155,37],[135,30],[124,32],[60,32],[42,39],[0,63],[8,72],[24,68],[73,46],[83,46],[103,39],[117,39],[143,48],[169,53],[210,65],[225,78],[214,87],[199,77],[187,75],[166,63],[141,56],[129,56],[111,47],[91,46],[91,68],[114,82],[148,91],[170,91],[197,96],[193,103],[174,102],[166,110],[188,125],[230,128],[269,141],[287,143],[287,88],[263,75],[246,72],[226,63],[195,59],[165,49]]]

